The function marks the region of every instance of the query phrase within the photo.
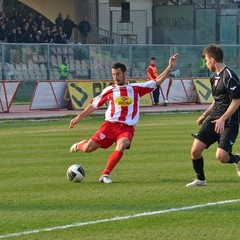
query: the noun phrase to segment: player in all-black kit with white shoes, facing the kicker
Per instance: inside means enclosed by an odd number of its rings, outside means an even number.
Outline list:
[[[221,163],[235,163],[240,177],[240,155],[232,154],[232,147],[238,135],[240,82],[237,74],[223,62],[223,50],[217,45],[208,45],[203,50],[207,68],[214,72],[210,79],[213,102],[197,119],[203,123],[194,136],[191,149],[193,169],[197,179],[187,187],[206,186],[203,151],[218,143],[216,158]]]

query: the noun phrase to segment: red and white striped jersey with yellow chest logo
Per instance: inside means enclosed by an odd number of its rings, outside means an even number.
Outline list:
[[[105,120],[134,126],[139,119],[140,98],[153,91],[155,87],[155,81],[108,86],[90,103],[96,109],[108,104]]]

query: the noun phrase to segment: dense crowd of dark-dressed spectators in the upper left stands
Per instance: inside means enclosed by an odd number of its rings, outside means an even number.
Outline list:
[[[8,19],[0,12],[0,42],[7,43],[57,43],[66,44],[71,42],[72,31],[78,27],[68,14],[64,19],[59,13],[55,19],[55,25],[46,26],[46,21],[41,14],[33,17],[30,12],[22,16],[14,11]]]

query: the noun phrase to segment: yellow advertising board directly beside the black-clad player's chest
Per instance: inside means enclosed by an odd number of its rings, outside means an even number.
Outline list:
[[[200,103],[212,103],[212,88],[209,78],[193,78]]]

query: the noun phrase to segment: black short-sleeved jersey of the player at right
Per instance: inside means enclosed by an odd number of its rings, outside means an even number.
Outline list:
[[[209,117],[215,120],[227,111],[232,99],[240,98],[240,82],[237,74],[228,67],[225,67],[219,74],[215,73],[210,82],[215,104]],[[238,111],[226,123],[238,123]]]

